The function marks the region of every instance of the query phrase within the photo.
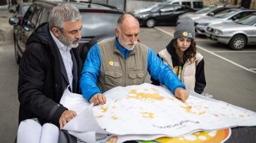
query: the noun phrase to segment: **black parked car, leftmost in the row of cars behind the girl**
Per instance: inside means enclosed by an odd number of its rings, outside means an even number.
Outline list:
[[[141,26],[176,25],[177,18],[183,13],[196,11],[188,6],[179,4],[158,4],[148,11],[132,13],[139,20]]]

